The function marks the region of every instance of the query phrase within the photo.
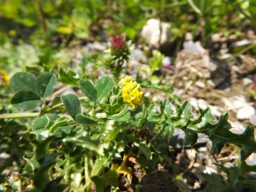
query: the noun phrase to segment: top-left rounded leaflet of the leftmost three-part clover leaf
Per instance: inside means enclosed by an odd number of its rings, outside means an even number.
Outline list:
[[[16,93],[19,90],[31,90],[36,92],[36,77],[32,73],[15,73],[10,80],[11,90]]]

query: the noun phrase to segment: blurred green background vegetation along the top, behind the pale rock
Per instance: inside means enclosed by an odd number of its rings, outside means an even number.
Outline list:
[[[68,63],[60,49],[110,36],[143,43],[140,31],[149,18],[171,23],[169,54],[175,55],[188,31],[203,46],[214,33],[244,38],[256,26],[256,1],[1,0],[0,68],[12,75],[23,65],[54,65],[59,58]]]

